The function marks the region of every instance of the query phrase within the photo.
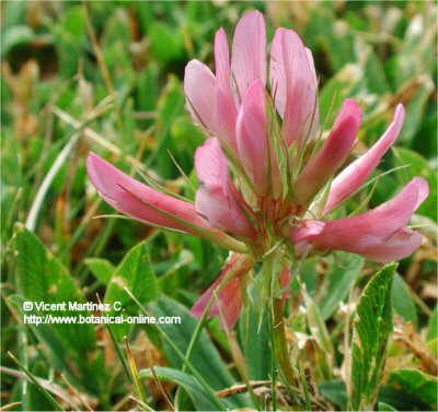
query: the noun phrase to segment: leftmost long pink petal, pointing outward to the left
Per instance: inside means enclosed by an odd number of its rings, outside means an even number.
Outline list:
[[[101,197],[114,209],[132,219],[192,234],[194,232],[189,225],[208,227],[208,223],[196,213],[192,203],[151,189],[94,153],[88,156],[87,170]]]

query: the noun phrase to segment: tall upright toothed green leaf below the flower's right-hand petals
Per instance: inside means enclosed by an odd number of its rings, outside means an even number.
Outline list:
[[[355,411],[374,408],[392,332],[391,287],[396,264],[385,266],[367,284],[354,318],[349,403]]]

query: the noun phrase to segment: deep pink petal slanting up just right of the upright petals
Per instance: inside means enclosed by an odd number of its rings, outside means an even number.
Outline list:
[[[342,166],[350,152],[360,126],[360,108],[346,99],[324,145],[298,176],[293,192],[301,204],[307,204]]]

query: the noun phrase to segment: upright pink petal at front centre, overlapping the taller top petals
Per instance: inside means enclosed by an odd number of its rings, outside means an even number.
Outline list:
[[[266,127],[265,87],[257,80],[247,89],[242,101],[237,136],[241,164],[260,196],[265,196],[269,189]]]

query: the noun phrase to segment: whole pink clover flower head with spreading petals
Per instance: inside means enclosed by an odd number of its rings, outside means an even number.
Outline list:
[[[249,12],[235,27],[231,56],[224,31],[217,32],[215,68],[214,73],[192,60],[185,69],[188,111],[208,136],[195,154],[199,189],[194,204],[134,180],[95,154],[88,160],[91,181],[122,213],[233,251],[217,281],[195,304],[195,316],[220,284],[220,307],[215,302],[210,315],[222,311],[232,327],[241,308],[241,283],[254,261],[281,239],[292,244],[297,255],[346,250],[378,262],[404,258],[419,246],[420,235],[406,227],[428,195],[419,177],[373,210],[328,219],[366,183],[394,143],[403,125],[402,105],[379,141],[343,168],[360,127],[360,108],[346,99],[319,145],[313,58],[295,32],[275,32],[267,73],[264,19],[260,12]],[[315,210],[322,211],[320,220],[312,215]],[[281,273],[278,284],[285,287],[286,267]]]

